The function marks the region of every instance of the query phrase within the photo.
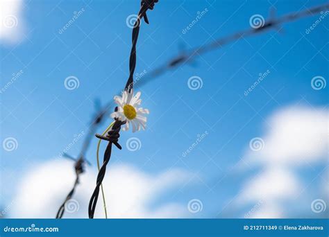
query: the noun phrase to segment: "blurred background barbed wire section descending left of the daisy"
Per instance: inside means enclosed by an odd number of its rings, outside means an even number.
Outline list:
[[[81,152],[78,155],[78,159],[74,159],[74,157],[71,157],[70,155],[67,155],[66,153],[64,154],[65,157],[67,157],[69,159],[73,159],[75,161],[74,170],[76,173],[76,179],[74,181],[73,187],[71,188],[71,191],[69,191],[64,202],[60,205],[60,208],[58,209],[58,212],[56,214],[57,219],[62,218],[62,216],[65,213],[65,206],[66,206],[67,202],[72,198],[72,196],[74,195],[74,192],[76,191],[76,186],[80,182],[80,175],[85,171],[84,170],[85,162],[87,164],[90,164],[89,161],[87,161],[87,159],[85,159],[85,153],[87,152],[87,149],[90,146],[90,142],[92,141],[92,138],[94,137],[94,132],[96,131],[96,128],[99,126],[99,124],[103,120],[104,116],[107,114],[109,107],[110,107],[110,104],[106,105],[103,108],[99,108],[99,111],[96,112],[96,115],[94,116],[94,119],[92,120],[92,123],[90,125],[87,137],[85,138],[85,141],[83,142]]]

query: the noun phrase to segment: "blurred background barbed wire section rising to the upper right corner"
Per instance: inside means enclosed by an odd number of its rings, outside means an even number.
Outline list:
[[[176,55],[174,58],[169,60],[169,62],[166,62],[165,64],[162,64],[162,66],[151,71],[148,76],[145,76],[143,78],[142,82],[138,82],[137,86],[141,87],[142,85],[145,85],[150,80],[162,75],[166,71],[175,69],[179,66],[183,66],[187,62],[191,62],[197,56],[200,56],[204,53],[208,53],[209,51],[213,51],[215,49],[221,48],[222,46],[224,46],[226,44],[230,44],[232,42],[236,42],[237,40],[241,40],[242,37],[250,37],[252,35],[265,33],[272,28],[278,29],[283,24],[287,24],[291,21],[296,21],[297,19],[301,19],[303,17],[317,15],[320,12],[323,12],[326,10],[329,10],[329,3],[323,4],[321,6],[309,8],[307,10],[291,12],[282,17],[276,18],[273,15],[271,15],[271,17],[269,17],[269,19],[264,21],[264,24],[260,25],[259,27],[256,27],[256,28],[251,27],[251,28],[248,28],[247,30],[242,30],[238,33],[233,33],[232,35],[228,35],[226,37],[221,37],[217,40],[214,40],[213,42],[210,42],[209,44],[195,47],[195,48],[187,50],[187,52],[185,51],[183,53]]]

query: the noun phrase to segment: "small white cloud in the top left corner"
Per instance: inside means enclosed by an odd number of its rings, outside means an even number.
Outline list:
[[[0,41],[8,44],[19,42],[24,36],[24,17],[22,0],[0,1]]]

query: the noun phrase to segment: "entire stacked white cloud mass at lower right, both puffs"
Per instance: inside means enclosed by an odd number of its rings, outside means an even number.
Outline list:
[[[291,216],[285,213],[290,201],[308,207],[305,200],[310,199],[296,200],[301,193],[307,195],[296,167],[313,169],[314,164],[328,164],[328,119],[329,111],[322,107],[291,106],[270,116],[269,130],[261,136],[264,148],[248,149],[244,156],[248,166],[258,164],[261,171],[244,183],[235,204],[244,207],[262,202],[252,218]]]

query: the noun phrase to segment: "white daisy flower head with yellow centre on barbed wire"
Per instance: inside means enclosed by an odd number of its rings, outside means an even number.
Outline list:
[[[133,126],[133,132],[139,131],[141,128],[145,130],[146,116],[142,114],[149,114],[149,109],[138,107],[142,100],[140,99],[140,91],[134,96],[133,89],[124,91],[122,96],[115,96],[115,103],[117,103],[117,111],[111,114],[112,119],[119,119],[126,121],[126,126],[122,129],[124,131],[129,129],[130,123]]]

